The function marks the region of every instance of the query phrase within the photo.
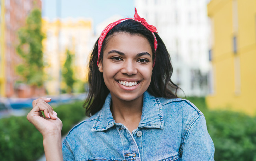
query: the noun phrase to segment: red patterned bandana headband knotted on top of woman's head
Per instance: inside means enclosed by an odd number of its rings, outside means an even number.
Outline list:
[[[156,27],[153,26],[153,25],[149,25],[147,23],[147,21],[144,19],[144,18],[140,18],[140,16],[138,15],[137,13],[137,10],[135,8],[135,14],[134,14],[134,18],[125,18],[125,19],[120,19],[116,22],[113,22],[111,24],[109,24],[101,33],[100,35],[100,38],[99,38],[99,41],[98,41],[98,62],[97,62],[97,65],[99,64],[99,61],[100,61],[100,53],[101,53],[101,46],[102,46],[102,42],[103,40],[105,39],[107,33],[114,27],[116,26],[117,24],[120,24],[121,22],[127,20],[127,19],[132,19],[132,20],[135,20],[137,22],[140,22],[142,25],[144,25],[148,30],[150,30],[154,36],[154,39],[155,39],[155,42],[154,42],[154,48],[155,48],[155,51],[157,49],[157,41],[156,41],[156,37],[155,37],[155,34],[154,32],[157,33],[156,31]],[[155,65],[155,59],[154,59],[154,62],[153,62],[153,67]]]

